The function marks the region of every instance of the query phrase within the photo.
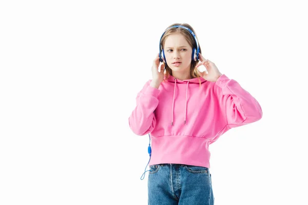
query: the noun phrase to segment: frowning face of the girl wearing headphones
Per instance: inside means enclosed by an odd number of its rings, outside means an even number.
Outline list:
[[[190,71],[192,48],[182,34],[171,34],[166,37],[164,53],[166,63],[172,71],[180,73]]]

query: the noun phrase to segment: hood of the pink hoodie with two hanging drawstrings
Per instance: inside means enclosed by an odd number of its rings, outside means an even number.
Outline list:
[[[206,81],[203,77],[196,77],[192,79],[187,79],[187,80],[180,80],[178,78],[175,78],[172,75],[169,75],[169,77],[166,79],[167,82],[174,83],[174,94],[173,94],[173,99],[172,99],[172,109],[171,109],[171,126],[173,126],[174,122],[174,106],[175,106],[175,97],[176,97],[176,88],[177,88],[177,83],[178,84],[186,84],[186,97],[185,97],[185,110],[184,110],[184,124],[186,124],[186,110],[187,110],[187,98],[188,98],[188,85],[189,84],[199,84],[203,83]]]

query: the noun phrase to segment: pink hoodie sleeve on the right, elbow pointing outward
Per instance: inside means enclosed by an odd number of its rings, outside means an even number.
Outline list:
[[[258,101],[237,81],[221,75],[216,85],[222,89],[222,110],[229,128],[239,127],[261,119],[263,112]]]

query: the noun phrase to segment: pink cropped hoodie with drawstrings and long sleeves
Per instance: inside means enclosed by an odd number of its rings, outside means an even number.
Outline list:
[[[262,117],[258,101],[224,74],[216,82],[169,76],[159,89],[148,80],[128,118],[137,135],[151,135],[150,165],[179,163],[210,168],[209,145],[231,128]],[[200,88],[199,88],[200,87]]]

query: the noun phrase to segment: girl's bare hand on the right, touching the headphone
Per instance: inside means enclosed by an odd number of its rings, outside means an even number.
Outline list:
[[[208,80],[208,81],[211,81],[211,82],[216,82],[216,80],[222,75],[217,66],[211,62],[210,60],[208,59],[205,59],[201,53],[199,53],[199,59],[201,62],[199,62],[199,64],[196,66],[197,70],[198,70],[198,67],[199,66],[205,66],[206,71],[203,71],[203,72],[199,72],[200,76],[203,77],[204,79]]]

